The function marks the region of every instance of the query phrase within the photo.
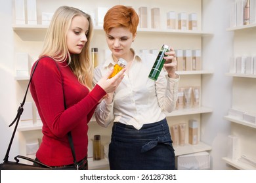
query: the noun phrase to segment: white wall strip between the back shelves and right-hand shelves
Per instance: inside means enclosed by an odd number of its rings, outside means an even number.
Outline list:
[[[203,0],[203,30],[214,33],[203,39],[203,67],[213,68],[214,74],[203,76],[202,105],[212,107],[211,114],[202,116],[201,140],[212,146],[211,168],[229,169],[221,159],[226,156],[227,136],[230,135],[230,122],[223,116],[231,107],[232,78],[228,72],[228,60],[232,55],[232,33],[229,26],[231,1]]]

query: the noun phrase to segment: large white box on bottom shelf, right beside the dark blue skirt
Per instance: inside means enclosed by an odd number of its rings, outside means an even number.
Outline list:
[[[178,156],[178,170],[208,170],[210,169],[209,152],[197,152]]]

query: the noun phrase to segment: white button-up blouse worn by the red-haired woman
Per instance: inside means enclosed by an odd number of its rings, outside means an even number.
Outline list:
[[[107,105],[102,100],[96,107],[95,118],[99,125],[107,127],[114,121],[140,129],[143,124],[163,120],[163,111],[175,110],[179,78],[165,76],[163,69],[158,80],[148,78],[155,60],[156,56],[153,54],[135,54],[129,73],[125,73],[114,92],[113,102]],[[96,67],[94,84],[114,64],[110,56],[102,65]]]

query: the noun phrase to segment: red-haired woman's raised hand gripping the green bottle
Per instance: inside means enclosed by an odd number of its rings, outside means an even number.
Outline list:
[[[176,78],[175,71],[177,68],[177,60],[173,48],[171,48],[169,52],[165,52],[165,56],[163,58],[165,59],[163,67],[165,67],[165,70],[167,71],[169,78]]]

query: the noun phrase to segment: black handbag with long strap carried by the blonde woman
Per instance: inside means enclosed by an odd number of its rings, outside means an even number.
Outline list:
[[[74,150],[74,144],[73,144],[73,141],[72,141],[71,132],[68,133],[68,141],[70,142],[70,148],[72,150],[72,156],[74,158],[74,165],[70,165],[70,166],[67,166],[67,167],[65,166],[65,167],[53,168],[53,167],[45,165],[45,164],[43,164],[39,161],[36,161],[35,159],[28,158],[26,156],[20,156],[20,155],[14,157],[15,161],[9,161],[9,159],[8,159],[9,158],[9,152],[10,152],[11,146],[12,146],[12,141],[14,139],[14,135],[15,135],[16,129],[18,127],[18,122],[20,121],[20,116],[22,115],[22,112],[24,110],[23,106],[24,106],[24,103],[26,101],[26,96],[27,96],[27,93],[28,93],[30,83],[32,81],[32,76],[33,76],[33,73],[35,72],[35,68],[37,67],[38,62],[39,62],[39,59],[37,60],[37,62],[35,63],[35,67],[33,68],[32,75],[30,77],[30,81],[28,82],[28,87],[27,87],[26,93],[24,95],[24,99],[23,99],[22,103],[20,104],[20,107],[18,107],[18,112],[16,114],[16,117],[14,118],[13,122],[9,125],[9,127],[11,127],[16,122],[13,133],[12,133],[11,141],[9,142],[9,146],[8,146],[7,152],[5,154],[5,158],[3,159],[3,163],[0,164],[0,170],[57,170],[57,169],[60,169],[60,170],[64,170],[64,169],[66,169],[66,170],[78,170],[79,165],[78,165],[78,163],[75,159],[75,150]],[[58,67],[58,64],[57,64],[57,67]],[[65,100],[64,100],[64,105],[65,105],[65,108],[66,108]],[[27,161],[31,161],[32,163],[36,163],[37,165],[28,165],[28,164],[25,164],[25,163],[20,163],[19,159],[26,159]]]

